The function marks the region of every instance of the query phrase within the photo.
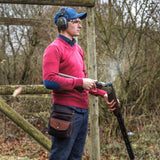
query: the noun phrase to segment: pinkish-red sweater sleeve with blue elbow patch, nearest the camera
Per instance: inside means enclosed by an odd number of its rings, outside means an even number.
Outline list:
[[[46,48],[43,57],[43,83],[47,89],[72,90],[82,87],[82,78],[64,78],[58,75],[61,54],[58,48],[50,45]]]

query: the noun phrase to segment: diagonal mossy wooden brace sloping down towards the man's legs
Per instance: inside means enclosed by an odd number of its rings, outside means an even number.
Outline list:
[[[8,118],[10,118],[31,137],[33,137],[42,147],[44,147],[47,151],[50,151],[51,141],[33,125],[26,121],[20,114],[13,110],[8,104],[6,104],[1,97],[0,111],[3,112]]]

